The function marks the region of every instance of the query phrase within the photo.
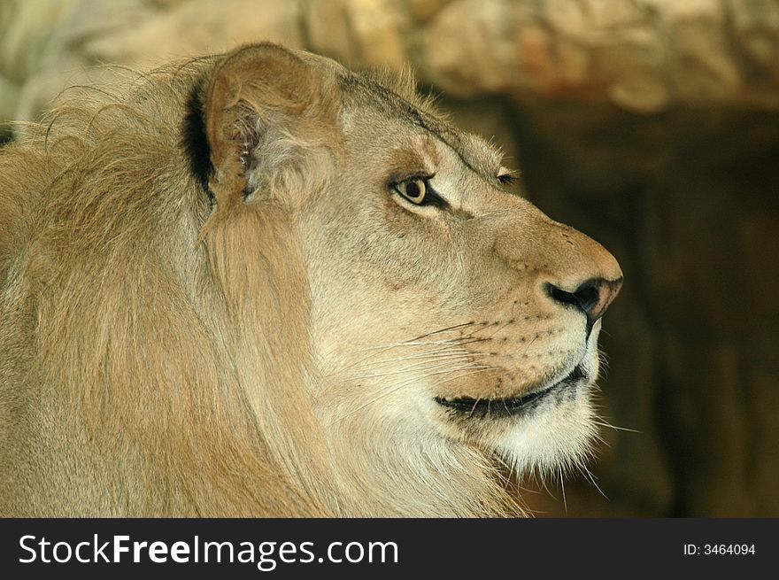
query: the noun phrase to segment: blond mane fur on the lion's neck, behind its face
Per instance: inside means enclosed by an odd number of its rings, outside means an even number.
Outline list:
[[[328,378],[290,206],[343,163],[335,85],[296,102],[224,62],[71,89],[0,153],[0,514],[520,513],[497,452]],[[431,111],[411,86],[389,90]]]

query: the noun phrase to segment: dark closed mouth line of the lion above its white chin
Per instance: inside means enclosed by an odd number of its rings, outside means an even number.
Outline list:
[[[586,376],[582,365],[576,365],[563,380],[558,383],[545,386],[537,391],[522,393],[517,397],[509,398],[443,398],[436,397],[438,405],[450,409],[455,414],[467,415],[467,417],[510,417],[527,412],[529,409],[555,392],[563,391],[574,386]]]

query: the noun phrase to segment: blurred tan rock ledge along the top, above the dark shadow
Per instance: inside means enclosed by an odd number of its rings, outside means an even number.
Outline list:
[[[350,66],[410,61],[459,97],[779,109],[774,0],[6,0],[0,30],[0,75],[20,85],[273,40]]]

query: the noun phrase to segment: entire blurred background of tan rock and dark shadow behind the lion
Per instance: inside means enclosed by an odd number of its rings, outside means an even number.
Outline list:
[[[779,516],[779,0],[3,0],[0,123],[86,66],[258,40],[410,62],[620,259],[601,404],[633,430],[597,485],[524,483],[539,515]]]

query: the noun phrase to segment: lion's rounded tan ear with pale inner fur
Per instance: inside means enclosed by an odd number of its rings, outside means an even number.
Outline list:
[[[221,207],[255,191],[289,185],[305,149],[321,145],[334,121],[328,79],[290,50],[270,43],[229,53],[204,97],[205,132],[214,168],[209,182]]]

